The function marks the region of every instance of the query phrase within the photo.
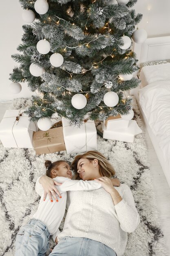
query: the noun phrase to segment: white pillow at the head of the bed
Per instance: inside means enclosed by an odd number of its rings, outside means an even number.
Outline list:
[[[155,81],[170,80],[170,63],[142,67],[139,79],[142,88]]]

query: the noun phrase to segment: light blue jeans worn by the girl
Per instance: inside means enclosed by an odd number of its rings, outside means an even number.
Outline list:
[[[18,231],[15,256],[45,256],[49,248],[49,237],[49,230],[40,220],[30,220]]]

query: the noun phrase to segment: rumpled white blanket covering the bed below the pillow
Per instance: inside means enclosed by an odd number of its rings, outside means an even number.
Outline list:
[[[170,170],[170,80],[153,82],[139,90],[139,103]]]

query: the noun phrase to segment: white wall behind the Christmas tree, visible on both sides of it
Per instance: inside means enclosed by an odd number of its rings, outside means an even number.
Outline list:
[[[11,54],[17,53],[17,46],[22,37],[22,8],[18,0],[4,0],[0,8],[0,101],[10,100],[16,97],[30,97],[26,83],[22,84],[19,94],[9,92],[9,73],[17,65],[11,58]],[[148,37],[170,35],[170,0],[138,0],[134,6],[137,13],[143,14],[139,28],[146,29]],[[148,11],[150,8],[150,11]],[[148,21],[148,23],[147,23]]]

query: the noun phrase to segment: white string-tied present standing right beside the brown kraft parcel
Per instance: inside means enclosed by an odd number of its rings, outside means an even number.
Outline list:
[[[64,143],[67,154],[80,153],[97,149],[97,130],[95,122],[84,119],[80,128],[69,125],[69,120],[62,118]]]

